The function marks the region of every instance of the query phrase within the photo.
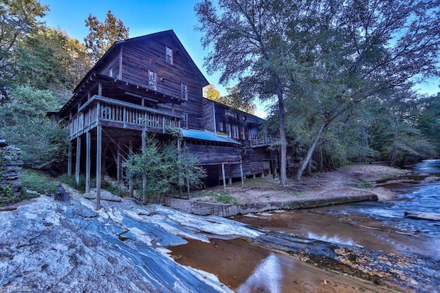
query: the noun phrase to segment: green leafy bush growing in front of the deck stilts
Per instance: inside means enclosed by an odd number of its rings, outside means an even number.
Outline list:
[[[166,194],[179,187],[201,187],[201,178],[206,172],[196,164],[194,156],[179,154],[175,145],[161,145],[154,137],[146,137],[143,154],[129,155],[122,166],[126,177],[133,178],[135,187],[142,191],[146,203],[153,198],[163,200]]]

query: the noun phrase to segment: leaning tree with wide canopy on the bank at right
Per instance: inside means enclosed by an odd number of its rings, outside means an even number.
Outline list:
[[[298,180],[322,133],[337,117],[388,89],[409,89],[416,80],[439,73],[438,1],[351,0],[329,2],[329,8],[320,17],[324,21],[309,63],[315,84],[307,97],[320,109],[319,127]]]

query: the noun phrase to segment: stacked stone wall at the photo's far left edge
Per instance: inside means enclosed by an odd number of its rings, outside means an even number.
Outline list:
[[[0,139],[0,205],[19,201],[21,197],[21,151]]]

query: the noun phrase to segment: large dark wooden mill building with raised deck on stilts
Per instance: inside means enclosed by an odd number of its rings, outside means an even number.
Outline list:
[[[261,119],[204,98],[206,85],[173,30],[113,44],[58,112],[67,121],[68,173],[74,167],[78,183],[85,172],[86,192],[96,174],[99,193],[102,174],[122,180],[125,154],[141,149],[148,132],[170,139],[169,128],[181,128],[206,186],[270,173],[277,161],[271,140],[259,137]]]

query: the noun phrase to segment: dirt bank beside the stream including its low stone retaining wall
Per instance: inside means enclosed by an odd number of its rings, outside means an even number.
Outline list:
[[[360,200],[389,200],[395,194],[377,186],[377,180],[398,178],[408,170],[384,165],[349,165],[333,172],[303,178],[301,183],[289,180],[285,187],[272,177],[248,179],[241,183],[206,189],[190,200],[168,200],[168,205],[199,215],[230,216],[237,213],[271,209],[320,207]]]

